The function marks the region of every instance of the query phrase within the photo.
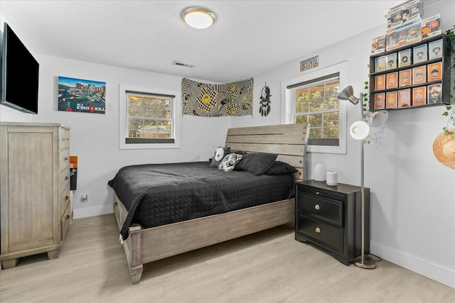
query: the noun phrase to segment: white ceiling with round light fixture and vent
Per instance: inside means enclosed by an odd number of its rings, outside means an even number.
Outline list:
[[[0,12],[32,54],[228,83],[385,26],[402,2],[1,0]],[[187,26],[188,6],[215,24]]]

